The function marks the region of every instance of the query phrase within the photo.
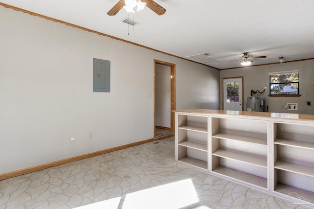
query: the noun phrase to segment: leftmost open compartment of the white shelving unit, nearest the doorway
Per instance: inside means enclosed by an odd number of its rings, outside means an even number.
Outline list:
[[[179,114],[176,159],[208,170],[208,116]]]

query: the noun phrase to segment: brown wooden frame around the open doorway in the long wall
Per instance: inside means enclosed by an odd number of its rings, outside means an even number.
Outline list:
[[[175,131],[175,113],[176,110],[176,65],[172,63],[154,60],[154,137],[156,136],[156,64],[170,67],[170,131]]]

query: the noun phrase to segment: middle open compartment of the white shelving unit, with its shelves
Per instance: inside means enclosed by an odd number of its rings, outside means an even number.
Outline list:
[[[211,171],[268,188],[268,121],[211,117]]]

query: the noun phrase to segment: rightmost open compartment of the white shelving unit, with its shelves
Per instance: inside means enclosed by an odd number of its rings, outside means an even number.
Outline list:
[[[274,122],[273,130],[274,191],[313,199],[314,125]]]

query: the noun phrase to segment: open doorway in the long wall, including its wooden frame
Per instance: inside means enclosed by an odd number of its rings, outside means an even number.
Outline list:
[[[174,133],[176,65],[154,60],[154,137]]]

